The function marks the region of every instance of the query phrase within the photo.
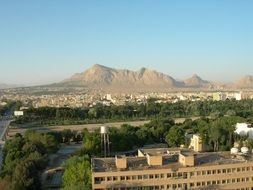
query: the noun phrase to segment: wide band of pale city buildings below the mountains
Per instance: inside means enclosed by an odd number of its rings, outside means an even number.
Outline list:
[[[78,93],[52,93],[52,94],[29,94],[29,93],[1,93],[0,105],[4,105],[4,100],[16,100],[23,102],[24,105],[37,107],[87,107],[96,104],[124,105],[127,103],[147,103],[154,99],[157,103],[176,103],[182,100],[203,101],[226,99],[252,99],[251,92],[143,92],[143,93],[97,93],[97,92],[78,92]]]

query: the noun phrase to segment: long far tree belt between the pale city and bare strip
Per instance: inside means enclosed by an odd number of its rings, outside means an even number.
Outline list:
[[[41,124],[79,124],[98,121],[136,120],[155,117],[192,117],[223,115],[253,118],[253,100],[179,101],[177,103],[96,105],[91,108],[30,108],[17,123],[40,121]]]

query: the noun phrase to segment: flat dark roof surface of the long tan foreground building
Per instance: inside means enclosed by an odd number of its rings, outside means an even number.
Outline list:
[[[177,149],[179,151],[179,149]],[[158,155],[161,150],[150,150],[146,153],[152,155]],[[176,149],[174,149],[176,151]],[[230,152],[206,152],[206,153],[196,153],[193,151],[181,151],[181,154],[185,156],[194,155],[194,167],[195,166],[209,166],[209,165],[221,165],[221,164],[232,164],[232,163],[243,163],[248,161],[253,161],[252,154],[249,155],[231,155]],[[118,169],[115,164],[115,158],[92,158],[92,171],[93,172],[113,172],[113,171],[137,171],[137,170],[147,170],[147,169],[178,169],[184,168],[178,162],[179,154],[169,154],[164,152],[163,164],[161,166],[150,166],[147,163],[146,157],[127,157],[127,168]]]

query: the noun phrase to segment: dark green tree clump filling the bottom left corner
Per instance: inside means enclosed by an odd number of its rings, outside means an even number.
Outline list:
[[[0,189],[41,189],[40,172],[47,166],[48,154],[57,149],[52,135],[30,130],[24,136],[16,134],[3,149]]]

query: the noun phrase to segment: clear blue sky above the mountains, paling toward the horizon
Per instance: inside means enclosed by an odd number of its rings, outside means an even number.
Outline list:
[[[230,81],[253,74],[252,0],[1,0],[0,83],[98,63]]]

